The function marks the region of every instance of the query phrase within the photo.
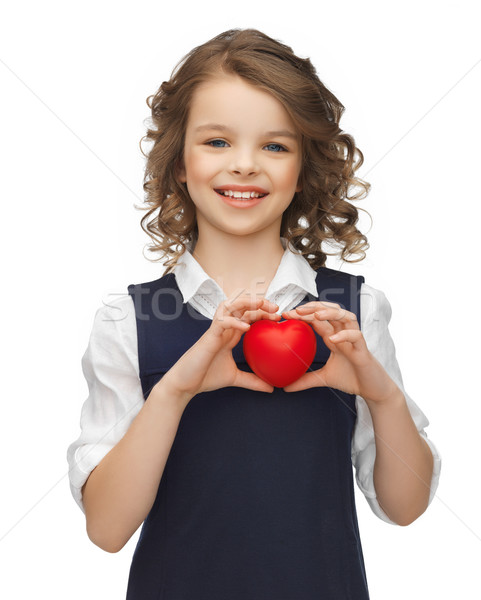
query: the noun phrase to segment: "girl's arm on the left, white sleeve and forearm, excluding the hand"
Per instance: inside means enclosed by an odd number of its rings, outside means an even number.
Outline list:
[[[89,395],[67,452],[70,487],[89,538],[116,552],[153,503],[182,410],[163,380],[144,401],[128,295],[97,311],[82,370]]]

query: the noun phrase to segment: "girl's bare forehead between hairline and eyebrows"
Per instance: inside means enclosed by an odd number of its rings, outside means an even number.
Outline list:
[[[190,104],[188,127],[198,128],[207,123],[296,130],[289,113],[273,94],[238,75],[212,77],[197,86]]]

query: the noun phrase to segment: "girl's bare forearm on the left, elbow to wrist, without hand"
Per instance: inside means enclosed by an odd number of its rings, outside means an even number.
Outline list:
[[[87,533],[103,550],[121,550],[152,508],[186,404],[161,379],[84,484]]]

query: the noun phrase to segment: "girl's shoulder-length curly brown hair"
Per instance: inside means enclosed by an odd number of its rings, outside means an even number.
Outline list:
[[[346,262],[363,260],[369,244],[356,227],[358,209],[350,201],[364,198],[371,186],[354,176],[364,157],[354,138],[339,128],[344,106],[319,80],[309,58],[297,57],[289,46],[257,29],[230,29],[191,50],[174,67],[170,80],[146,100],[152,128],[140,148],[147,159],[143,183],[147,206],[136,208],[147,211],[141,227],[153,240],[149,250],[161,253],[154,261],[167,256],[164,274],[169,273],[188,244],[197,242],[195,205],[185,184],[177,181],[176,170],[194,91],[222,73],[239,75],[269,92],[301,134],[302,191],[284,211],[281,237],[313,269],[324,266],[328,255],[339,253],[323,251],[323,242],[337,243]],[[145,139],[153,142],[148,154],[142,150]],[[360,190],[349,195],[356,187]],[[360,258],[348,259],[356,254]]]

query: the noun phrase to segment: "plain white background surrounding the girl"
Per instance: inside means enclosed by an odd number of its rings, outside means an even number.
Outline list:
[[[481,598],[477,9],[474,0],[4,8],[3,598],[125,597],[138,533],[120,553],[103,552],[68,487],[66,449],[87,395],[80,360],[108,294],[163,272],[143,255],[149,239],[134,208],[145,100],[191,48],[234,27],[310,57],[346,107],[341,126],[372,184],[358,206],[373,225],[361,213],[368,258],[343,270],[390,300],[406,390],[443,457],[437,496],[409,527],[379,520],[357,493],[371,598]]]

